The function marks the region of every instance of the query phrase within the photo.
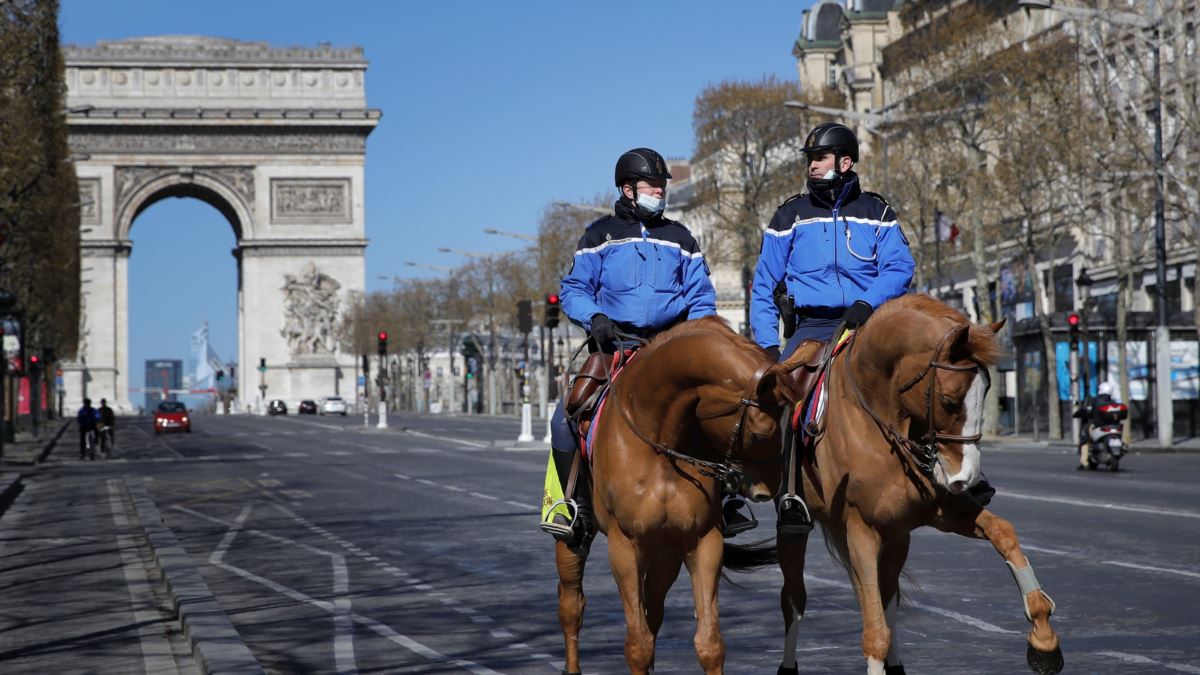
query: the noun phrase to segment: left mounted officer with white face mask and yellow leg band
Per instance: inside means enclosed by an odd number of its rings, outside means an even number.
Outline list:
[[[682,321],[716,313],[716,293],[700,245],[686,227],[662,216],[671,178],[662,155],[649,148],[629,150],[617,160],[613,178],[620,191],[613,215],[588,226],[559,293],[563,311],[588,330],[592,346],[604,354],[632,346],[618,331],[644,340]],[[547,495],[552,480],[558,480],[559,492],[566,488],[578,453],[565,407],[558,406],[551,420],[553,470],[547,472]],[[578,504],[575,518],[556,513],[546,521],[548,510],[542,514],[542,530],[571,546],[586,544],[593,534],[586,483],[578,479],[575,494],[565,495]],[[542,506],[550,507],[545,496]]]

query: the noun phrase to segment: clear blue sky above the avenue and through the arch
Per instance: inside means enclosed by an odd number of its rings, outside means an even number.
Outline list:
[[[208,35],[272,46],[361,46],[367,102],[367,288],[377,276],[457,264],[439,246],[505,250],[547,203],[612,192],[634,147],[691,154],[692,103],[724,79],[796,78],[792,42],[811,1],[466,2],[62,0],[64,43]],[[236,359],[235,240],[211,207],[142,214],[130,259],[131,384],[146,358],[186,358],[205,319]]]

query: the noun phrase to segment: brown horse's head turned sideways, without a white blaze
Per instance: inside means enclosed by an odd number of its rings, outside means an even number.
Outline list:
[[[728,448],[725,461],[737,472],[738,491],[764,502],[779,491],[781,422],[799,390],[779,364],[757,352],[730,359],[733,374],[701,387],[696,417],[713,447]]]

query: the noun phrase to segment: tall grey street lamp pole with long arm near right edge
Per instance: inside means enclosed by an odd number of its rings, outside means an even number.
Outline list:
[[[1151,2],[1148,17],[1130,12],[1093,10],[1070,5],[1056,5],[1054,0],[1019,0],[1018,6],[1030,10],[1052,10],[1068,17],[1098,18],[1111,24],[1148,30],[1145,40],[1151,48],[1151,90],[1153,92],[1154,125],[1154,410],[1158,419],[1158,443],[1174,442],[1175,411],[1171,402],[1171,333],[1166,323],[1166,216],[1163,205],[1163,77],[1159,52],[1162,50],[1163,12],[1158,1]]]

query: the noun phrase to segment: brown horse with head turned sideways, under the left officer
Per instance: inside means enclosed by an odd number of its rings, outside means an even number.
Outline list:
[[[696,605],[695,647],[704,673],[721,673],[718,620],[722,566],[774,565],[774,546],[726,544],[726,484],[769,501],[782,476],[782,413],[798,390],[781,364],[716,317],[680,323],[636,352],[616,377],[594,432],[592,503],[625,613],[625,662],[654,667],[667,590],[682,566]],[[580,673],[586,548],[556,544],[564,673]]]

